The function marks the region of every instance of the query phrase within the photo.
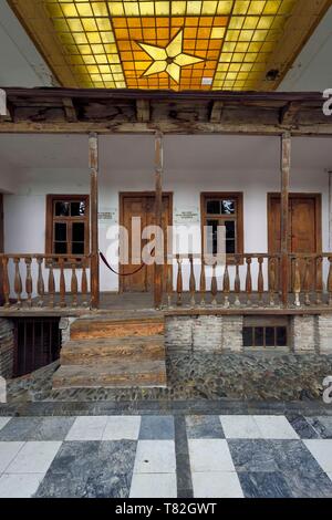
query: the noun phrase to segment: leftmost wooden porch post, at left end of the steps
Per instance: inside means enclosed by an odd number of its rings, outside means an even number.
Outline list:
[[[89,136],[90,197],[91,197],[91,308],[100,305],[100,256],[98,256],[98,136]]]

